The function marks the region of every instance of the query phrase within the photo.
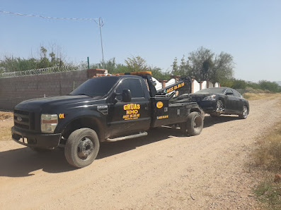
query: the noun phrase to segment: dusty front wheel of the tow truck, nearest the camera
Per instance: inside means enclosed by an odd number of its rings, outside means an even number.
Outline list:
[[[99,149],[100,142],[96,132],[90,128],[81,128],[69,135],[64,156],[72,166],[83,168],[96,159]]]

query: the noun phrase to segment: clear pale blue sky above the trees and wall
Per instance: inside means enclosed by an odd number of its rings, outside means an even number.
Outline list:
[[[0,11],[58,18],[103,18],[104,59],[141,56],[164,72],[199,47],[234,57],[236,79],[281,81],[280,0],[22,1],[0,0]],[[102,60],[93,20],[55,20],[0,13],[0,59],[39,56],[55,43],[69,62]]]

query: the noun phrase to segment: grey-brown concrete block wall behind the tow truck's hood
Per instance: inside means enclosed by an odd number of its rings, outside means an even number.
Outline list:
[[[0,110],[12,111],[21,101],[69,94],[96,70],[76,70],[46,75],[0,78]],[[98,71],[104,73],[104,71]]]

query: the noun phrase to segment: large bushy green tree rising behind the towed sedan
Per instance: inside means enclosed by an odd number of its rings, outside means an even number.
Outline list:
[[[173,75],[194,76],[198,81],[224,82],[233,77],[234,61],[230,54],[221,52],[215,55],[210,49],[200,47],[189,54],[188,61],[183,56],[180,66],[175,58],[172,69]]]

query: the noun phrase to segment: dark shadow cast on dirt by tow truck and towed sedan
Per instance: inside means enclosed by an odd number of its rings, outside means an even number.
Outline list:
[[[218,118],[206,116],[204,128],[234,120],[238,120],[238,118],[236,116],[219,116]],[[127,152],[136,149],[137,147],[142,147],[161,140],[167,140],[171,137],[188,138],[188,136],[183,136],[178,128],[156,128],[154,130],[149,130],[149,135],[146,137],[123,140],[120,142],[101,143],[97,159],[103,159],[108,156]],[[28,147],[0,152],[0,177],[25,177],[34,175],[33,171],[38,170],[47,173],[62,173],[66,171],[74,171],[76,168],[67,163],[62,149],[55,149],[43,154],[33,152]]]

